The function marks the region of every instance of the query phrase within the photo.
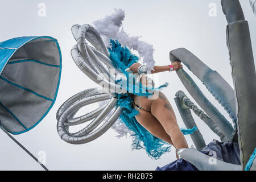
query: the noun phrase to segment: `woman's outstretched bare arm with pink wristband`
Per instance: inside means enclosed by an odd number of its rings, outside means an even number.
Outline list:
[[[134,63],[130,66],[131,71],[133,71],[133,73],[138,73],[138,68],[141,66],[142,64],[140,63]],[[182,64],[180,63],[180,61],[175,61],[174,63],[171,63],[172,67],[173,67],[173,71],[183,68]],[[165,65],[165,66],[155,66],[154,67],[154,71],[151,70],[151,73],[159,73],[159,72],[165,72],[165,71],[170,71],[171,68],[169,65]]]

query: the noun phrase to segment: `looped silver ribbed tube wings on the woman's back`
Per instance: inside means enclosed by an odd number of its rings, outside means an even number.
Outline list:
[[[100,86],[77,93],[60,106],[56,114],[57,132],[65,142],[82,144],[100,137],[119,118],[123,109],[117,106],[117,98],[114,93],[126,93],[126,89],[115,84],[114,80],[121,72],[113,67],[108,50],[94,27],[89,24],[82,26],[75,24],[71,30],[77,41],[71,50],[73,60],[86,76]],[[89,46],[86,40],[93,47]],[[108,100],[106,105],[74,118],[81,107],[104,100]],[[112,110],[114,110],[113,114],[105,121]],[[80,125],[92,119],[93,121],[84,129],[76,133],[69,133],[69,126]],[[96,129],[97,127],[98,129]]]

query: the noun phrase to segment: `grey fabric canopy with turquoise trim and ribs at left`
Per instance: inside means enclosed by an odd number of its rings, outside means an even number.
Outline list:
[[[0,43],[0,121],[12,134],[38,125],[53,106],[61,76],[61,52],[49,36]]]

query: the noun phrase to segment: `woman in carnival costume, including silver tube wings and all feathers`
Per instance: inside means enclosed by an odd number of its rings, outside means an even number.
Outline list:
[[[133,149],[143,148],[148,156],[159,159],[170,151],[171,145],[176,150],[188,148],[183,134],[191,134],[196,128],[180,130],[170,102],[160,92],[168,83],[155,88],[154,81],[147,74],[174,71],[182,68],[182,65],[176,61],[171,65],[155,66],[152,45],[136,36],[129,36],[123,28],[120,30],[124,17],[122,10],[115,10],[112,15],[95,21],[94,27],[89,24],[72,26],[77,45],[72,48],[71,55],[77,67],[97,84],[110,84],[110,88],[102,88],[102,85],[88,88],[65,101],[56,113],[57,132],[65,142],[82,144],[100,137],[112,127],[119,133],[117,137],[131,135]],[[89,46],[85,39],[95,48]],[[133,55],[131,49],[143,57],[143,65],[138,63],[139,57]],[[107,65],[108,68],[104,68]],[[110,74],[110,69],[115,69],[114,73]],[[108,79],[102,75],[105,73]],[[111,85],[122,91],[117,93]],[[106,93],[100,93],[102,89]],[[98,109],[74,117],[82,106],[94,102],[100,104]],[[93,121],[84,129],[69,132],[69,126],[80,125],[91,119]]]

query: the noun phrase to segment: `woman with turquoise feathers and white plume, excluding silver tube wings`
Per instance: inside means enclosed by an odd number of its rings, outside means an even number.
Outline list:
[[[128,93],[117,94],[118,105],[124,108],[119,117],[120,122],[125,123],[127,128],[133,131],[133,148],[144,148],[149,156],[158,159],[170,151],[170,144],[176,151],[188,148],[188,144],[184,132],[181,132],[177,125],[170,102],[160,91],[168,83],[155,88],[154,81],[147,74],[176,71],[183,67],[179,61],[156,66],[152,57],[152,45],[139,40],[138,37],[129,36],[123,28],[119,31],[124,17],[123,10],[115,9],[112,15],[95,21],[94,26],[104,38],[114,67],[127,78],[127,84],[122,86],[127,86]],[[138,63],[139,58],[131,53],[131,49],[138,51],[139,56],[143,57],[144,65]],[[118,131],[118,127],[119,124],[113,129]]]

